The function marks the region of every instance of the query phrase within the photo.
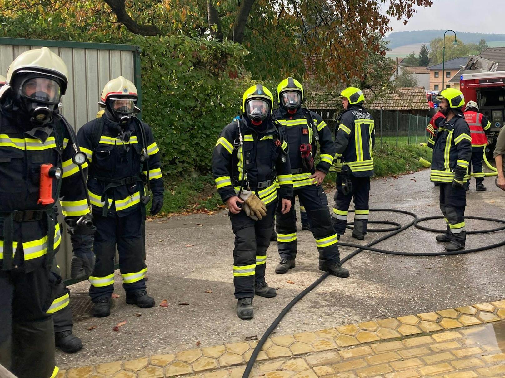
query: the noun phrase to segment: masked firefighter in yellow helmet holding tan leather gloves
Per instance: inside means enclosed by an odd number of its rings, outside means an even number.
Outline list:
[[[284,128],[272,118],[273,102],[263,85],[247,89],[243,114],[223,129],[212,158],[216,187],[235,234],[233,283],[240,319],[254,316],[255,294],[277,295],[265,281],[267,249],[275,210],[289,212],[293,197],[288,144]]]

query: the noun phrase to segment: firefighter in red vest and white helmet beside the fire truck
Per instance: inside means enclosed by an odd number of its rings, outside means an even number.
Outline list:
[[[468,101],[465,107],[465,120],[470,127],[470,136],[472,137],[472,158],[468,166],[468,174],[474,168],[475,191],[482,192],[486,190],[484,186],[484,172],[482,171],[482,159],[484,158],[484,149],[487,145],[485,132],[491,127],[491,122],[482,113],[479,113],[479,105],[475,101]],[[466,190],[470,189],[470,177],[466,183]]]

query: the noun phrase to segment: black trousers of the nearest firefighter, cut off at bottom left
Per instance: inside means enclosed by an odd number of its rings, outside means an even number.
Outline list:
[[[53,319],[47,313],[56,285],[44,263],[29,273],[0,270],[0,363],[18,378],[58,373]]]

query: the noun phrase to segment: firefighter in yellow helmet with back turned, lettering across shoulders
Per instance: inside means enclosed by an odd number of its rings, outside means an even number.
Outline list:
[[[365,96],[359,88],[344,89],[338,97],[344,110],[335,130],[335,167],[337,191],[333,207],[333,228],[338,237],[344,234],[349,204],[354,197],[354,230],[352,237],[364,239],[367,234],[370,176],[374,174],[373,147],[375,123],[363,107]]]

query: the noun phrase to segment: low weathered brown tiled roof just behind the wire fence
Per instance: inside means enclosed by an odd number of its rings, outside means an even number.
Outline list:
[[[344,89],[335,88],[331,93],[317,91],[304,83],[307,93],[305,106],[309,109],[341,109],[339,93]],[[365,89],[365,107],[383,110],[429,110],[424,87],[396,88],[395,90]]]

